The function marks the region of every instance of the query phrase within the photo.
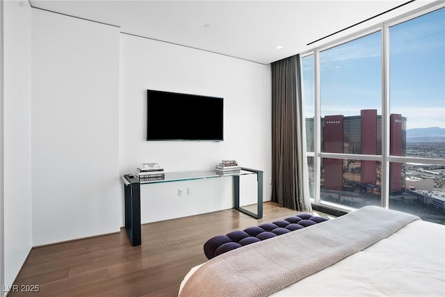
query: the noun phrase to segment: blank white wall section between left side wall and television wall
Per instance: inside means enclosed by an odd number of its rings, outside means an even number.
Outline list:
[[[33,245],[120,230],[119,29],[32,13]]]

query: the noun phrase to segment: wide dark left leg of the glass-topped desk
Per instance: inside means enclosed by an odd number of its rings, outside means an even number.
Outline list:
[[[124,184],[125,198],[125,229],[131,244],[140,245],[140,184],[129,182]]]

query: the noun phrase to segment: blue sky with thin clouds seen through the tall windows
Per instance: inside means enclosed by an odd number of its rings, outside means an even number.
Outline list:
[[[381,32],[321,51],[321,115],[382,114]],[[445,8],[389,28],[390,112],[407,129],[445,128]],[[313,116],[314,59],[303,58],[305,115]]]

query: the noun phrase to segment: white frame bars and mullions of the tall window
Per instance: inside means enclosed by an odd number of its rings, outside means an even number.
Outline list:
[[[390,106],[389,106],[389,28],[391,26],[396,26],[403,22],[410,21],[416,17],[421,17],[435,10],[445,8],[445,3],[443,2],[433,2],[422,8],[417,8],[409,13],[404,13],[398,17],[394,17],[380,24],[370,26],[367,29],[362,29],[357,33],[347,35],[346,37],[327,42],[325,45],[319,47],[314,47],[308,51],[300,53],[300,65],[302,64],[302,59],[307,56],[314,56],[314,152],[307,151],[306,143],[306,126],[305,119],[302,120],[304,136],[303,141],[303,160],[305,161],[305,172],[308,172],[307,158],[314,158],[314,197],[310,196],[309,191],[309,178],[307,174],[304,176],[304,190],[305,195],[313,200],[313,204],[320,205],[323,207],[330,207],[332,209],[337,209],[340,211],[352,211],[354,208],[347,207],[341,204],[335,204],[332,202],[326,202],[321,200],[321,159],[356,159],[365,161],[380,161],[382,168],[382,189],[381,189],[381,207],[389,208],[389,164],[391,162],[396,163],[424,163],[424,164],[439,164],[445,166],[445,159],[433,159],[433,158],[423,158],[414,156],[392,156],[389,154],[389,116],[390,116]],[[343,153],[328,153],[321,152],[321,96],[320,96],[320,53],[332,47],[338,45],[343,45],[352,40],[362,38],[366,35],[381,31],[382,40],[382,58],[381,58],[381,71],[382,71],[382,125],[381,125],[381,135],[382,135],[382,154],[381,155],[369,155],[369,154],[343,154]],[[300,77],[303,79],[302,70]],[[301,82],[303,87],[303,81]],[[304,94],[304,92],[302,92]],[[302,99],[302,110],[304,111],[305,100]],[[303,115],[304,117],[304,115]]]

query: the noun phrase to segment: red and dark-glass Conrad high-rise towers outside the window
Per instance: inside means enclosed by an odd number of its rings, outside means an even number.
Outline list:
[[[406,152],[406,118],[399,114],[390,115],[390,154],[404,156]],[[382,154],[382,116],[376,109],[364,109],[360,115],[326,115],[321,118],[321,152],[344,154]],[[307,150],[314,151],[314,119],[306,119]],[[348,161],[323,159],[322,186],[325,189],[341,191],[345,186],[345,172]],[[355,168],[353,168],[355,169]],[[380,162],[359,161],[358,172],[352,170],[348,176],[355,176],[354,182],[363,185],[380,184]],[[390,191],[401,191],[405,186],[401,163],[390,164]]]

